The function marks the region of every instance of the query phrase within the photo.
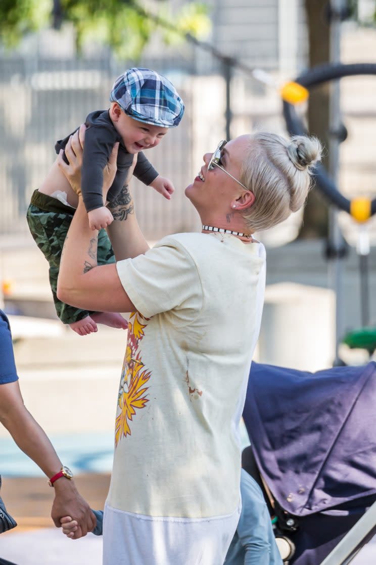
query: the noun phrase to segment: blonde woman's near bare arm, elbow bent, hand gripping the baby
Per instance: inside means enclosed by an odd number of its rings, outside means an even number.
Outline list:
[[[104,169],[104,198],[116,172],[118,144],[114,146]],[[81,166],[82,147],[78,134],[72,137],[65,147],[65,155],[71,164],[68,166],[59,156],[59,167],[72,180],[72,187],[77,191],[77,177],[72,171]],[[72,166],[72,168],[70,168]],[[89,227],[89,219],[82,197],[70,224],[65,238],[63,254],[60,260],[59,278],[57,280],[57,296],[63,302],[79,308],[105,312],[131,312],[136,308],[130,301],[118,277],[115,264],[98,267],[96,254],[98,248],[98,231]]]

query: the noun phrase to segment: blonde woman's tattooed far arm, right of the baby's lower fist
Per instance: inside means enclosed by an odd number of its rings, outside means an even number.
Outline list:
[[[142,255],[149,249],[139,227],[130,190],[124,186],[118,197],[108,205],[114,221],[107,232],[117,261]]]

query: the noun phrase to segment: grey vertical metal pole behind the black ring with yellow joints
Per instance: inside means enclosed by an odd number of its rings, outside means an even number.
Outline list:
[[[338,63],[340,60],[340,26],[341,15],[344,8],[343,0],[330,2],[330,62]],[[340,88],[339,80],[331,83],[329,105],[329,174],[338,185],[339,168],[339,140],[338,132],[341,124],[340,116]],[[329,208],[329,249],[331,257],[328,261],[329,286],[335,293],[335,360],[334,365],[342,364],[339,358],[339,344],[343,337],[343,266],[340,250],[343,249],[343,237],[338,225],[338,210],[334,206]]]

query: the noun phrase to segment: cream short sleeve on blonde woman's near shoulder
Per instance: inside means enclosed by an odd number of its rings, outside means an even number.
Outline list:
[[[125,292],[146,318],[175,310],[180,319],[189,320],[200,312],[203,292],[196,263],[173,238],[116,266]]]

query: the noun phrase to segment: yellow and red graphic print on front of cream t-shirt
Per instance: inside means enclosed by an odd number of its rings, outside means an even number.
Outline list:
[[[148,321],[140,312],[132,312],[128,323],[127,349],[121,373],[120,389],[118,394],[118,415],[115,420],[115,447],[122,437],[131,435],[130,422],[137,409],[144,408],[149,402],[147,398],[148,386],[145,384],[152,372],[144,368],[139,351],[139,343],[144,337],[144,328]],[[120,413],[119,413],[120,411]]]

